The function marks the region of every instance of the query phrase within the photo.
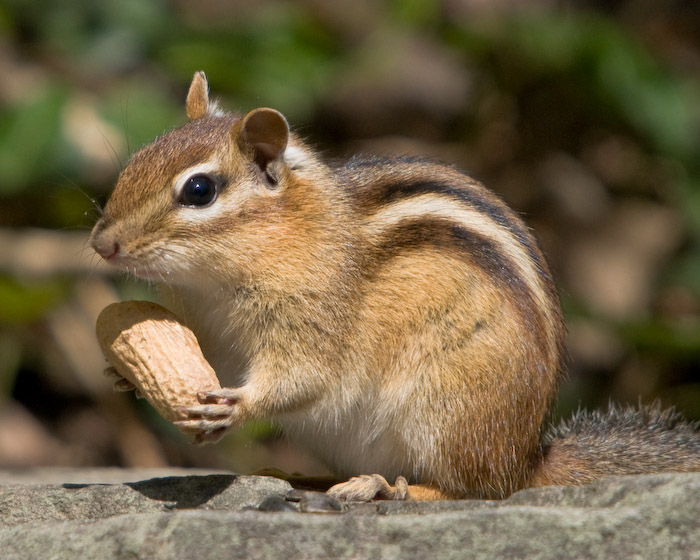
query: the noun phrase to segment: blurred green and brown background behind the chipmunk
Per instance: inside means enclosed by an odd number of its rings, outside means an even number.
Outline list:
[[[265,423],[194,448],[101,376],[97,313],[152,294],[87,235],[200,69],[328,157],[432,156],[520,212],[570,330],[559,414],[700,418],[698,30],[681,0],[2,0],[0,467],[321,472]]]

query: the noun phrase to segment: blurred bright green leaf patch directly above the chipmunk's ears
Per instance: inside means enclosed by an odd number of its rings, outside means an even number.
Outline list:
[[[263,22],[175,34],[161,57],[183,80],[204,70],[216,91],[235,96],[232,109],[269,105],[302,120],[331,87],[336,54],[332,37],[303,16],[280,9],[263,14]]]

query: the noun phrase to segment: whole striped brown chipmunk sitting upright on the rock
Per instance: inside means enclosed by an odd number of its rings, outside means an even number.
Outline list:
[[[197,441],[275,419],[349,479],[329,490],[345,500],[700,470],[696,426],[658,407],[547,432],[557,292],[528,228],[480,183],[421,159],[323,163],[276,110],[219,109],[202,72],[186,113],[131,157],[91,244],[161,285],[233,373],[178,422]]]

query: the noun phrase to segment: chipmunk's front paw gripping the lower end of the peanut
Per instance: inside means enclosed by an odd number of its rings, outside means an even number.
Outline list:
[[[197,399],[200,404],[180,409],[184,418],[174,422],[180,431],[194,435],[194,443],[214,443],[242,422],[241,398],[236,389],[199,393]]]

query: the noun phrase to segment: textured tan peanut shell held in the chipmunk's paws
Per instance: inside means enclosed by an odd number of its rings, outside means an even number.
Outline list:
[[[102,310],[95,330],[107,360],[170,421],[185,417],[180,409],[199,404],[198,392],[220,388],[194,333],[160,305],[113,303]]]

